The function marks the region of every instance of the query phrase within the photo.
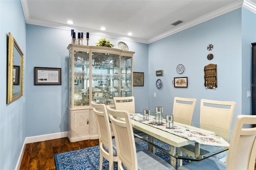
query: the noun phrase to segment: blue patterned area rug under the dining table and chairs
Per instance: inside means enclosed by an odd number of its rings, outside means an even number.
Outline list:
[[[142,140],[137,141],[145,150],[148,144]],[[159,144],[170,150],[170,146],[159,142]],[[166,162],[170,163],[170,155],[156,149],[156,155],[160,156]],[[100,147],[92,146],[79,150],[72,150],[54,155],[56,170],[98,170],[100,168]],[[183,164],[185,164],[184,162]],[[109,162],[103,158],[103,170],[109,169]],[[114,162],[114,170],[118,170],[117,162]]]

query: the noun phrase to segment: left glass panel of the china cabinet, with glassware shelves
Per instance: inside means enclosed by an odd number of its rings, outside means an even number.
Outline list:
[[[74,51],[74,105],[90,105],[90,53]]]

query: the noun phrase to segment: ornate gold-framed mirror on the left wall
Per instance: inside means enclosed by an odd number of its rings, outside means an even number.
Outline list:
[[[7,104],[23,95],[23,53],[9,32]]]

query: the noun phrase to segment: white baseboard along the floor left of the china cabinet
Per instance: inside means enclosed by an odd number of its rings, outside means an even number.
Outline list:
[[[51,140],[51,139],[65,138],[65,137],[68,137],[68,132],[59,132],[59,133],[26,137],[24,140],[24,143],[22,145],[22,149],[21,149],[20,156],[18,158],[18,162],[16,164],[15,170],[20,169],[22,157],[24,155],[24,151],[25,151],[25,147],[26,147],[27,143],[40,142],[40,141],[44,141],[44,140]]]

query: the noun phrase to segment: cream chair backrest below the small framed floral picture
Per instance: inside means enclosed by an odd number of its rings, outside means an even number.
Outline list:
[[[175,118],[192,120],[196,105],[196,99],[188,99],[182,97],[174,97],[172,115]]]

